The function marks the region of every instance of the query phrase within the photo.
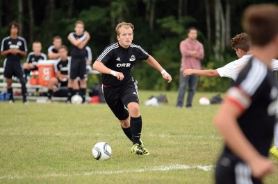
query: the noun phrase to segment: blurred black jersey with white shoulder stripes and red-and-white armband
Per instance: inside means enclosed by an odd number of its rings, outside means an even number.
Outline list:
[[[277,113],[278,89],[275,76],[259,59],[252,58],[227,92],[227,100],[243,113],[238,125],[263,156],[268,156]],[[224,153],[231,154],[226,146]]]

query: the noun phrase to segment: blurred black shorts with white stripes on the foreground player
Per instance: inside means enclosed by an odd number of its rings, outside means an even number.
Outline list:
[[[251,168],[233,154],[220,156],[215,168],[216,184],[254,183],[262,181],[252,177]]]

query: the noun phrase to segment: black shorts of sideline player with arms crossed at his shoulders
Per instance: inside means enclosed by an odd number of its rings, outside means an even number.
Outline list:
[[[76,79],[80,77],[84,79],[86,77],[86,60],[85,57],[73,57],[70,61],[70,78]]]

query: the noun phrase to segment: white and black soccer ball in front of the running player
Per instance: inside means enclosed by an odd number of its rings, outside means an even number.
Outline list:
[[[112,149],[106,142],[97,142],[94,147],[92,147],[92,156],[96,160],[108,160],[111,158]]]

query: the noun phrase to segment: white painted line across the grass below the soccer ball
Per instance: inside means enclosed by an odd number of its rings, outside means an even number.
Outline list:
[[[201,169],[204,172],[209,172],[213,169],[213,165],[162,165],[157,167],[149,167],[144,169],[126,169],[126,170],[115,170],[115,171],[91,171],[91,172],[81,172],[73,174],[43,174],[38,176],[0,176],[1,179],[20,179],[20,178],[56,178],[56,177],[72,177],[72,176],[91,176],[95,174],[111,175],[111,174],[128,174],[128,173],[139,173],[139,172],[165,172],[170,170],[186,170],[186,169]]]

